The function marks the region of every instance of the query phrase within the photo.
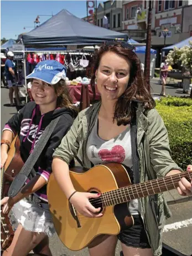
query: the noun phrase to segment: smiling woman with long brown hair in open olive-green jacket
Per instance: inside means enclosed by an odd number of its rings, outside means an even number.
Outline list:
[[[146,89],[141,63],[132,45],[117,41],[103,44],[95,59],[91,79],[93,90],[95,81],[101,102],[79,113],[55,150],[52,164],[61,190],[79,213],[90,218],[102,217],[100,208],[89,201],[100,194],[75,191],[69,176],[69,163],[76,157],[78,163],[87,168],[117,162],[132,169],[130,124],[133,117],[137,122],[140,182],[182,171],[170,156],[167,130],[154,109],[155,102]],[[191,187],[191,183],[182,178],[178,192],[191,194]],[[114,256],[118,239],[124,256],[161,255],[163,226],[165,218],[170,217],[163,194],[134,199],[128,207],[134,226],[89,248],[91,256]]]

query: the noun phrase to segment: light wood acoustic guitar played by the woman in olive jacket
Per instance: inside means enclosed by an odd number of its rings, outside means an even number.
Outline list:
[[[92,244],[96,244],[101,235],[117,235],[121,230],[133,226],[128,201],[177,188],[181,177],[191,181],[192,172],[132,185],[128,172],[119,163],[97,165],[81,173],[79,168],[73,168],[70,178],[76,191],[101,193],[98,198],[90,198],[90,202],[96,208],[101,207],[103,216],[87,218],[68,201],[52,173],[47,192],[56,232],[61,242],[71,250],[95,246]]]

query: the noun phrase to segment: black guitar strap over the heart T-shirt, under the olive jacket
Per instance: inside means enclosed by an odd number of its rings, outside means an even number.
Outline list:
[[[137,153],[137,121],[136,113],[131,121],[131,150],[133,159],[133,180],[134,184],[140,182],[139,179],[139,157]]]

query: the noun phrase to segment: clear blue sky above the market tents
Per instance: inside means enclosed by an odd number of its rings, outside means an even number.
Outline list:
[[[103,1],[97,1],[97,6]],[[40,24],[53,15],[67,9],[79,18],[87,15],[86,1],[7,1],[1,0],[1,38],[17,39],[21,33],[34,28],[35,18],[39,15]],[[26,27],[25,29],[23,29]],[[27,28],[32,27],[32,28]]]

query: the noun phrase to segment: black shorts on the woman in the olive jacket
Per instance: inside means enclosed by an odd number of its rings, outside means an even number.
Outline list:
[[[134,219],[133,227],[120,232],[120,234],[117,235],[118,239],[128,247],[141,249],[151,248],[141,216],[132,215],[132,217]]]

